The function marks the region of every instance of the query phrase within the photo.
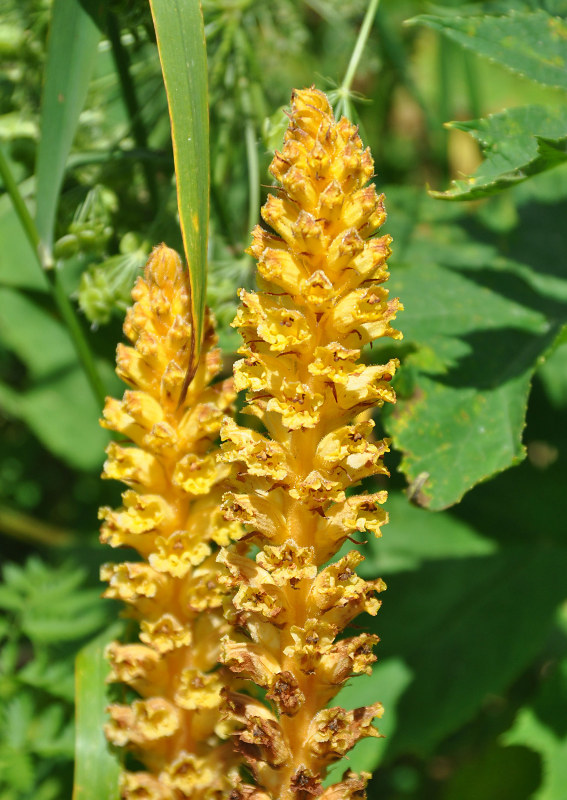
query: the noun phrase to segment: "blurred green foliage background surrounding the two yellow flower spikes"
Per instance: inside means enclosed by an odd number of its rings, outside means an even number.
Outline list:
[[[74,660],[88,642],[76,798],[110,798],[115,762],[84,722],[102,713],[96,665],[118,613],[97,583],[112,554],[96,510],[119,496],[98,478],[97,420],[101,396],[122,392],[114,349],[135,276],[153,244],[182,250],[167,100],[143,3],[5,5],[0,798],[70,796]],[[391,522],[363,569],[389,589],[358,621],[381,636],[376,669],[342,694],[382,700],[387,738],[349,765],[376,770],[370,798],[564,800],[567,3],[202,6],[208,302],[227,373],[234,290],[253,285],[244,248],[293,87],[315,83],[355,117],[387,197],[390,288],[406,309],[388,354],[403,370],[379,418],[395,446]]]

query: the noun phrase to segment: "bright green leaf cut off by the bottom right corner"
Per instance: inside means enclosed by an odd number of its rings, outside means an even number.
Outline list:
[[[534,702],[522,708],[506,744],[523,744],[540,754],[542,783],[530,800],[562,800],[567,786],[567,659],[548,667]]]

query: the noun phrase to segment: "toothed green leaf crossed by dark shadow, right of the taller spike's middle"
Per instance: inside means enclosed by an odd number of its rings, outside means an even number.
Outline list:
[[[403,298],[404,335],[421,350],[405,360],[403,379],[413,360],[415,384],[405,397],[401,388],[386,425],[405,454],[410,484],[423,483],[419,502],[439,510],[523,458],[531,375],[556,329],[542,315],[431,264],[399,269],[391,290]]]

